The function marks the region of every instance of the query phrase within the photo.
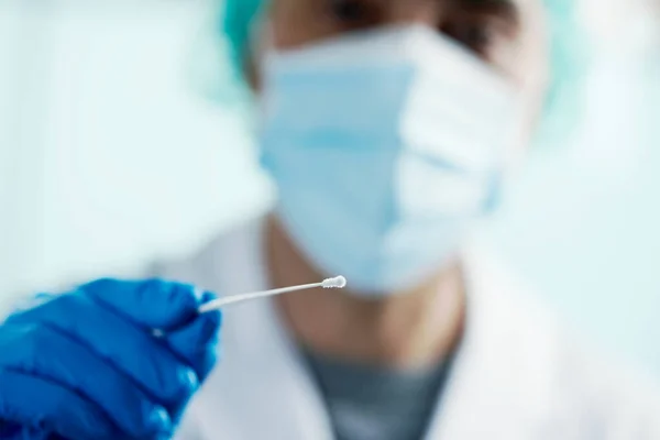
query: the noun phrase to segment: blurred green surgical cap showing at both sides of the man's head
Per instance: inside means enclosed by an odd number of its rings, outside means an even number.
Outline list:
[[[264,4],[270,0],[223,0],[220,15],[221,35],[228,51],[234,78],[242,76],[251,29]],[[549,91],[544,120],[538,132],[541,141],[557,140],[578,120],[581,97],[579,78],[586,64],[585,44],[576,18],[574,0],[544,0],[550,16],[552,36],[552,86]]]

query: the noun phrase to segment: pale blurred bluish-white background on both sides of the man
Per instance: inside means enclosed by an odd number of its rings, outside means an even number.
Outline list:
[[[0,312],[186,254],[268,206],[246,106],[209,99],[209,78],[230,80],[216,21],[215,0],[0,0]],[[571,326],[660,378],[660,8],[582,0],[580,24],[578,127],[532,150],[480,234]]]

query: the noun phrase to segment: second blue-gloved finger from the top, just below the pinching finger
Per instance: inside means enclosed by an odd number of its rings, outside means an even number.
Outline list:
[[[9,323],[44,322],[75,338],[166,406],[187,398],[197,374],[150,332],[96,304],[84,293],[66,294],[8,318]]]

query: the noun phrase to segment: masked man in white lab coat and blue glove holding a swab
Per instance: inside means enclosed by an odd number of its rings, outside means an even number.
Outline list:
[[[541,113],[541,2],[258,3],[230,0],[226,19],[275,209],[148,279],[12,314],[0,437],[660,438],[650,386],[470,240]],[[349,285],[197,311],[327,275]]]

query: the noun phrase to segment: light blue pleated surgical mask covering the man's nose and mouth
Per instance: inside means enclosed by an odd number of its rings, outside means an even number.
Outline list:
[[[498,191],[513,88],[424,26],[270,50],[262,63],[263,165],[308,260],[365,297],[448,263]]]

